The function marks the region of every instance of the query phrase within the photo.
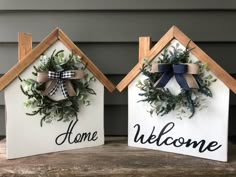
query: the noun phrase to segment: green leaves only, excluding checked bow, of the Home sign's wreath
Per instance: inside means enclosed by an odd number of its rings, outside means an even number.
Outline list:
[[[82,79],[70,80],[76,96],[59,101],[42,95],[46,83],[37,82],[36,77],[38,72],[85,69],[86,65],[81,62],[81,57],[75,55],[73,51],[68,58],[65,57],[63,50],[58,52],[54,50],[50,57],[41,55],[39,65],[34,66],[35,72],[32,72],[34,78],[21,79],[19,77],[22,83],[20,85],[21,91],[28,98],[24,105],[33,109],[31,113],[26,114],[29,116],[41,115],[41,126],[43,126],[43,122],[51,123],[53,120],[66,122],[73,118],[77,119],[81,104],[90,105],[89,94],[96,95],[95,91],[89,87],[90,83],[96,80],[95,77],[86,73]]]

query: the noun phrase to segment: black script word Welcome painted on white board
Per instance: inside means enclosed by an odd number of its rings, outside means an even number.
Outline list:
[[[179,148],[181,146],[185,146],[186,148],[198,148],[198,151],[200,153],[203,153],[205,151],[216,151],[219,149],[222,145],[219,145],[217,141],[211,141],[207,144],[206,140],[202,139],[200,141],[195,141],[192,139],[185,140],[184,137],[179,137],[174,139],[173,137],[167,136],[164,137],[167,133],[169,133],[173,128],[175,127],[174,122],[167,123],[160,131],[159,135],[156,136],[155,133],[155,126],[153,126],[152,131],[147,137],[145,137],[145,134],[141,134],[141,126],[139,124],[136,124],[134,128],[137,128],[136,134],[134,136],[134,142],[140,142],[141,144],[153,144],[156,143],[157,146],[174,146],[176,148]],[[163,139],[163,140],[162,140]]]

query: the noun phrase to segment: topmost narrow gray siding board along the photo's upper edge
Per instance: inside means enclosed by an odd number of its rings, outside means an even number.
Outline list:
[[[0,10],[235,10],[234,0],[1,0]]]

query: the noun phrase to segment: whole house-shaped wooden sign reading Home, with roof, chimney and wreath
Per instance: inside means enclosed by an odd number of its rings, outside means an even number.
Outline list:
[[[104,144],[104,87],[115,86],[57,28],[32,49],[19,33],[19,62],[0,79],[7,158]]]

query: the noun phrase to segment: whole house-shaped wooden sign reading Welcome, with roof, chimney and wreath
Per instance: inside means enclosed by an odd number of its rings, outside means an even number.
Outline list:
[[[175,26],[150,42],[139,38],[139,62],[117,85],[128,86],[128,145],[227,161],[235,79]]]

